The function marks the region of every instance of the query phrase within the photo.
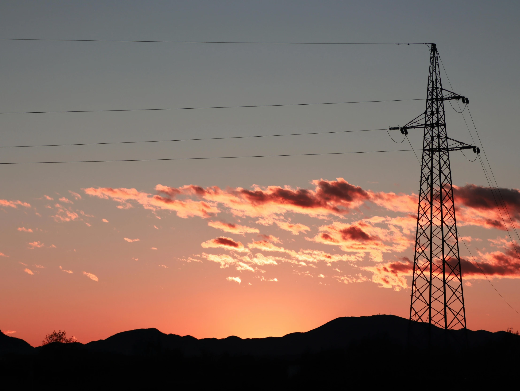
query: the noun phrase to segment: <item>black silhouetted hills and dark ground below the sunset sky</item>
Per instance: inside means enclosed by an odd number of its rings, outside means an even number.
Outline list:
[[[518,335],[445,332],[391,315],[337,318],[306,333],[254,339],[140,329],[33,348],[0,333],[2,384],[14,387],[503,388],[517,384],[519,364]]]

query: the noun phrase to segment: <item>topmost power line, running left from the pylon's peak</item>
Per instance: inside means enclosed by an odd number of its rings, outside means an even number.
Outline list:
[[[0,38],[2,41],[50,41],[50,42],[136,42],[136,43],[219,43],[219,44],[261,44],[261,45],[427,45],[428,43],[389,42],[258,42],[258,41],[151,41],[151,40],[68,40],[44,38]]]

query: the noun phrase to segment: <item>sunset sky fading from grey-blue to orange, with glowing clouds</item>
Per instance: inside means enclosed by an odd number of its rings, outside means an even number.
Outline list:
[[[471,114],[448,135],[484,147],[517,228],[516,2],[2,2],[0,37],[435,42]],[[0,41],[2,112],[419,99],[425,45]],[[445,75],[443,73],[443,78]],[[445,87],[449,85],[443,79]],[[450,88],[450,87],[447,87]],[[424,101],[1,114],[0,146],[386,129]],[[469,124],[468,129],[464,120]],[[401,135],[392,134],[396,141]],[[410,131],[420,148],[422,131]],[[2,148],[0,162],[408,149],[386,132]],[[466,152],[473,159],[472,152]],[[479,160],[452,153],[459,236],[520,311],[520,261]],[[0,327],[33,346],[157,327],[281,336],[334,318],[408,317],[420,166],[412,152],[0,165]],[[512,233],[513,239],[515,233]],[[516,238],[518,244],[519,239]],[[461,245],[467,326],[520,316]]]

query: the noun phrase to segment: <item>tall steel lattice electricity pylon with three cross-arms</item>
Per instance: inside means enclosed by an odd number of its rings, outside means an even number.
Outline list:
[[[452,99],[469,103],[465,96],[443,89],[437,46],[432,44],[426,110],[399,128],[405,135],[408,129],[424,129],[410,320],[444,329],[465,329],[449,152],[473,149],[474,153],[480,153],[480,150],[447,136],[444,101]]]

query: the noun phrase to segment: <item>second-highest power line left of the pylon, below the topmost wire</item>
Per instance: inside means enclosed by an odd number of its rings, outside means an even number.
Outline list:
[[[245,107],[281,107],[281,106],[317,106],[317,105],[345,105],[348,103],[378,103],[378,102],[407,102],[421,99],[387,99],[387,100],[357,100],[355,102],[326,102],[326,103],[289,103],[282,105],[248,105],[248,106],[207,106],[207,107],[173,107],[161,109],[110,109],[110,110],[55,110],[55,111],[3,111],[0,114],[41,114],[60,112],[107,112],[107,111],[158,111],[158,110],[194,110],[194,109],[237,109]]]

